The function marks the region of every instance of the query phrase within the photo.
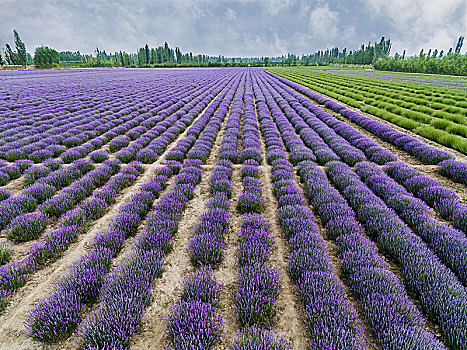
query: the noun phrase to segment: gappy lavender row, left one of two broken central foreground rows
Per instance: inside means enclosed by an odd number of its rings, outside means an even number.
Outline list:
[[[218,181],[229,182],[230,161],[221,160],[210,179],[208,208],[195,227],[187,247],[195,271],[185,276],[180,300],[166,319],[170,346],[173,349],[210,349],[222,336],[222,317],[217,310],[220,285],[212,271],[223,257],[224,235],[229,228],[230,201]]]

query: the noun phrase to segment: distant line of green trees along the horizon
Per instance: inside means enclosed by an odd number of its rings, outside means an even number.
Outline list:
[[[389,57],[391,40],[381,38],[379,42],[362,44],[359,49],[347,51],[338,47],[319,50],[309,55],[297,56],[287,54],[277,57],[224,57],[183,53],[180,48],[171,48],[167,42],[157,47],[148,44],[140,47],[135,53],[117,51],[107,53],[96,48],[93,54],[82,54],[79,51],[57,52],[53,48],[41,46],[36,48],[34,59],[26,52],[26,46],[18,32],[13,30],[14,48],[5,45],[5,57],[0,55],[0,65],[5,63],[16,66],[34,64],[37,68],[52,67],[225,67],[225,66],[294,66],[294,65],[372,65],[378,70],[435,73],[451,75],[467,75],[467,56],[461,55],[464,37],[461,36],[456,48],[448,53],[443,50],[424,50],[419,55],[406,57],[398,53]]]

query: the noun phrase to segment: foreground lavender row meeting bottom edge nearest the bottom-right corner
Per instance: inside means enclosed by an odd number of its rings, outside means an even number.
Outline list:
[[[310,204],[320,217],[329,238],[339,248],[341,268],[363,306],[381,349],[445,349],[426,331],[422,314],[409,300],[407,292],[376,245],[366,236],[355,212],[332,187],[326,175],[312,162],[299,165]],[[344,180],[342,180],[344,181]]]

